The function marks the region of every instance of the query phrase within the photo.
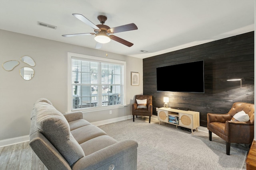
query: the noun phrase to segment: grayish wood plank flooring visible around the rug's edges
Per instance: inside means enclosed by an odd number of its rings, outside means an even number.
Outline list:
[[[142,117],[142,119],[148,122],[147,118]],[[159,121],[153,118],[151,119],[151,123],[159,123]],[[168,123],[161,123],[161,125],[176,129],[176,126]],[[208,139],[208,133],[203,131],[194,132],[194,135]],[[224,140],[214,134],[212,140],[225,143]],[[232,143],[231,146],[249,150],[248,147],[243,147],[235,143]],[[224,152],[226,152],[226,150]],[[47,168],[30,148],[29,142],[24,142],[0,148],[0,170],[47,170]],[[242,170],[246,170],[246,163],[244,163]]]

